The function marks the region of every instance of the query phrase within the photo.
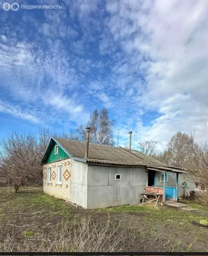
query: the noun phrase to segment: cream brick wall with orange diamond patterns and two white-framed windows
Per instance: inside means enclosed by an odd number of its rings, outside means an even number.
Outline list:
[[[62,184],[56,184],[57,165],[62,165]],[[48,182],[48,168],[51,167],[52,178]],[[51,196],[71,200],[71,159],[67,158],[43,166],[43,191]]]

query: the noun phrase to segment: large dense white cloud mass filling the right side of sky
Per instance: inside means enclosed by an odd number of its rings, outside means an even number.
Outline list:
[[[143,127],[140,139],[157,140],[160,148],[177,130],[190,134],[196,129],[198,142],[207,139],[207,7],[205,0],[107,5],[109,29],[128,56],[123,70],[138,58],[143,71],[140,104],[162,114],[152,126]]]

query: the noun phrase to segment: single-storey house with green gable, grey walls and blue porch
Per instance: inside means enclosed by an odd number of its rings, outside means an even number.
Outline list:
[[[142,192],[177,200],[194,190],[187,172],[138,151],[52,137],[41,164],[44,192],[86,209],[140,204]]]

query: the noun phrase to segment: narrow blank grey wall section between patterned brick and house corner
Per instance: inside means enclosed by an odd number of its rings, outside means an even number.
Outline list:
[[[71,159],[71,202],[87,208],[87,164]]]

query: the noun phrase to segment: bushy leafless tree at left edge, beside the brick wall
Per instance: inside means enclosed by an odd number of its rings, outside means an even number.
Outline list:
[[[14,192],[28,179],[42,177],[41,151],[33,134],[8,134],[1,142],[0,175],[13,184]]]

